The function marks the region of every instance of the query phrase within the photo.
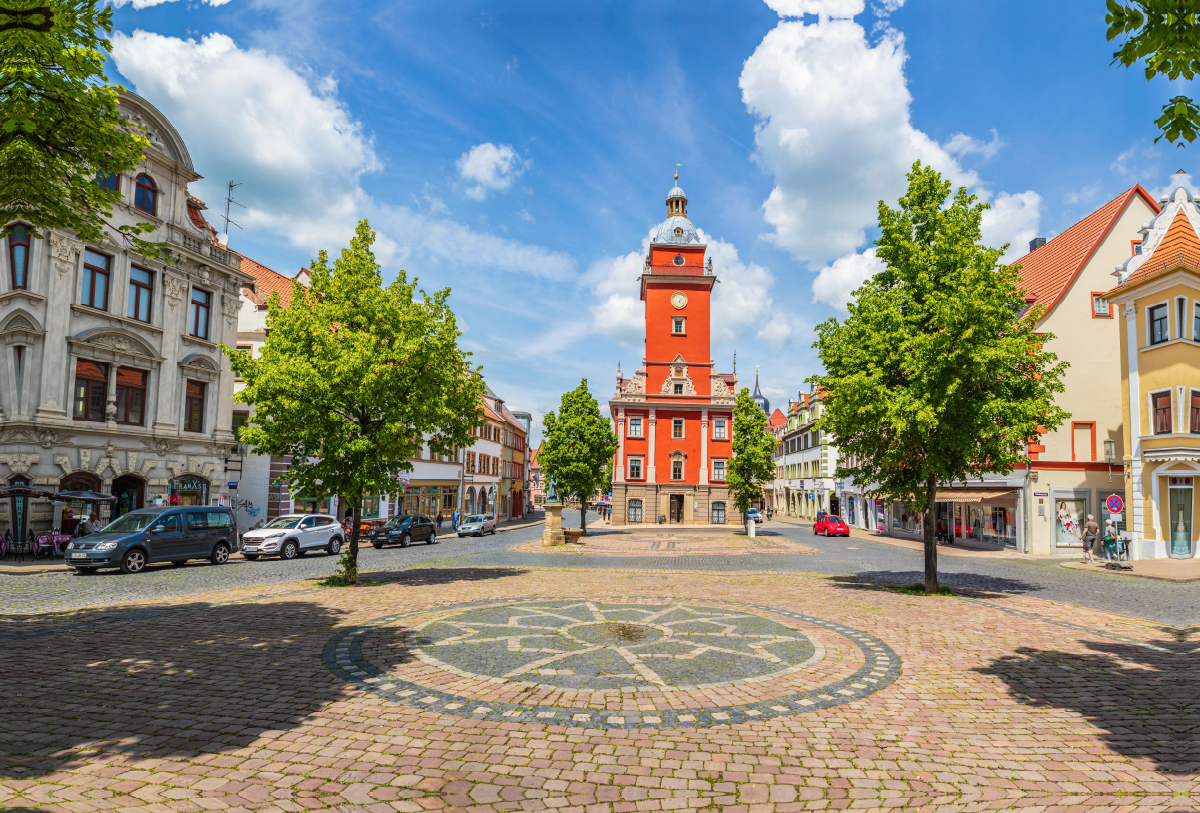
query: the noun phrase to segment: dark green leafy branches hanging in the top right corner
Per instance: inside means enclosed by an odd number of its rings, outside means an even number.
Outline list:
[[[1112,54],[1114,65],[1145,61],[1147,79],[1163,74],[1190,82],[1200,72],[1200,0],[1108,0],[1108,7],[1109,42],[1124,37]],[[1200,108],[1187,96],[1176,96],[1163,106],[1154,125],[1160,131],[1156,144],[1163,138],[1176,146],[1190,144],[1200,134]]]

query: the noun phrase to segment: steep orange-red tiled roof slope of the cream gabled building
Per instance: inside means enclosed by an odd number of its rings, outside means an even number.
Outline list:
[[[1156,212],[1158,211],[1158,205],[1150,193],[1141,186],[1134,186],[1046,245],[1014,261],[1013,265],[1021,266],[1021,283],[1026,289],[1025,301],[1036,301],[1048,311],[1057,305],[1134,195],[1141,195]]]

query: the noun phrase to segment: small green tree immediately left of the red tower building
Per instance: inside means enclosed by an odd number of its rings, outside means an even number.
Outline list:
[[[559,498],[580,501],[580,528],[588,532],[588,500],[610,477],[608,465],[617,453],[612,422],[600,414],[600,404],[588,392],[588,380],[564,392],[558,414],[542,418],[541,451],[538,463],[544,477],[554,478]]]

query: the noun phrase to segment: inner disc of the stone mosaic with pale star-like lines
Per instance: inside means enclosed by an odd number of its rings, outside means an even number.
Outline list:
[[[824,655],[778,621],[690,602],[502,604],[426,621],[404,644],[470,678],[620,691],[766,680]]]

